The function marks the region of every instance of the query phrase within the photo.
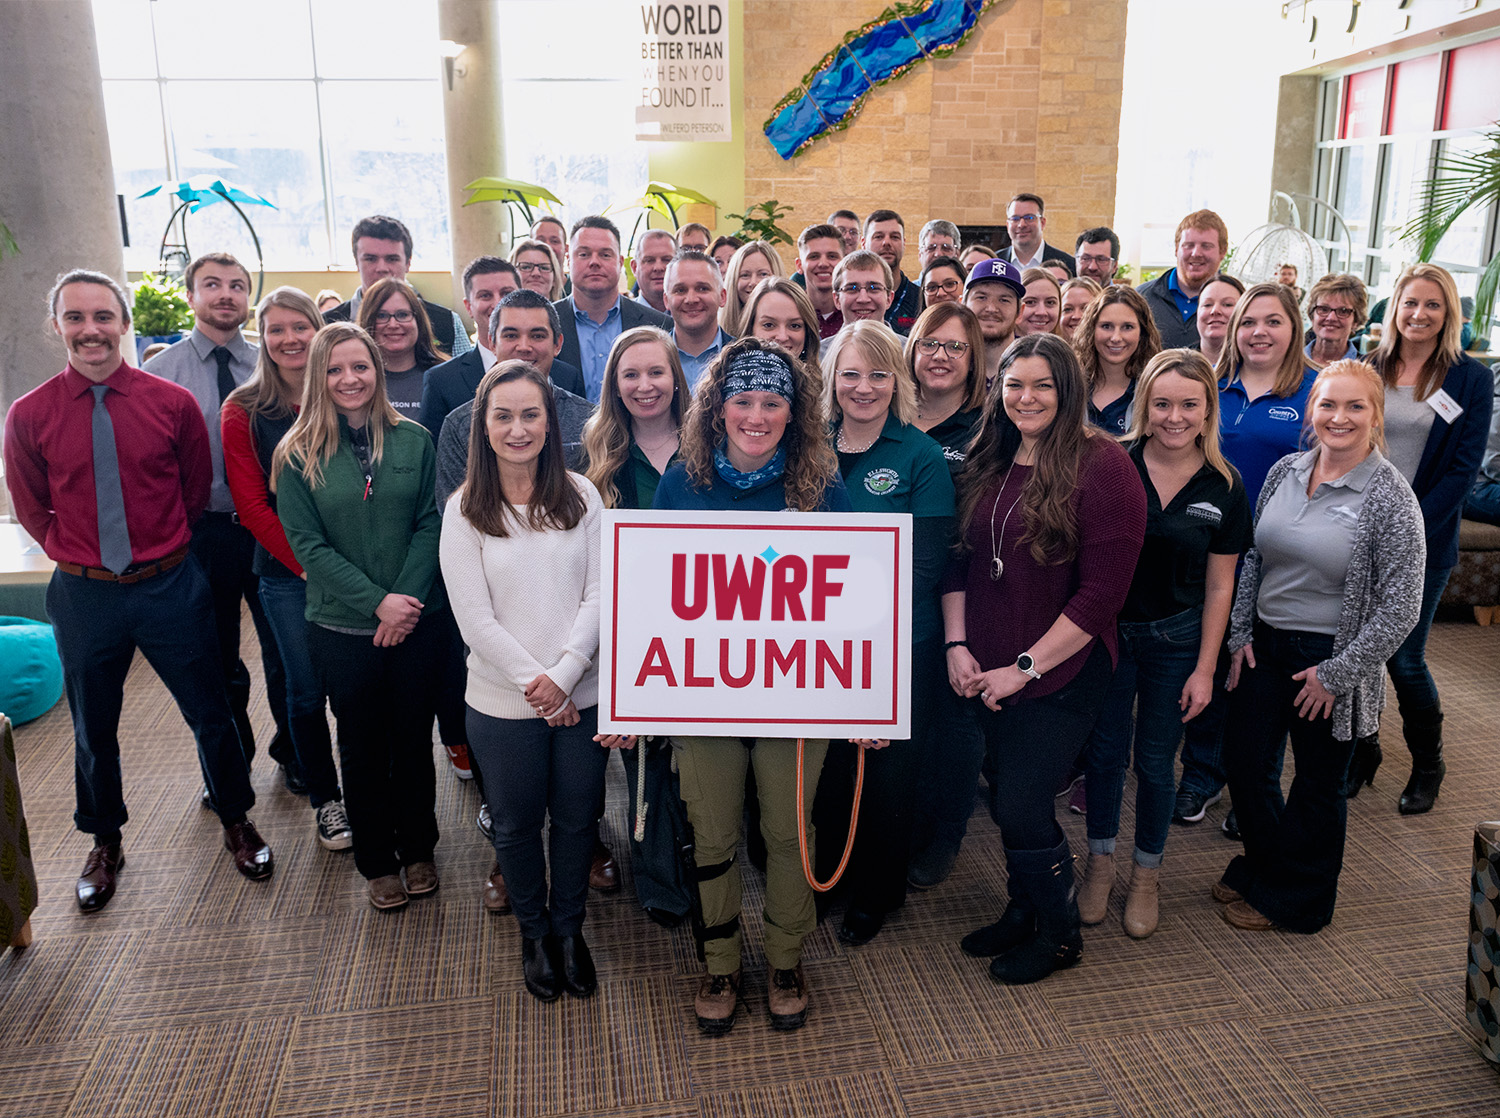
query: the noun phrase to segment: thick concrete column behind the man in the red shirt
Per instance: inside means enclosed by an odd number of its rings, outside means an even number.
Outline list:
[[[0,3],[0,411],[68,360],[44,299],[60,272],[124,282],[114,165],[88,0]]]

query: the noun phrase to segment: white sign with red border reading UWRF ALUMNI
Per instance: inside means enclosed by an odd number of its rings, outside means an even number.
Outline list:
[[[910,737],[906,513],[604,512],[598,728]]]

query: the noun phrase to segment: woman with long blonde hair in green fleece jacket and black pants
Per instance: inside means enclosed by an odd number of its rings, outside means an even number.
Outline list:
[[[339,723],[354,866],[381,909],[438,887],[435,480],[432,438],[386,398],[375,342],[350,323],[322,327],[272,488],[306,572],[308,645]]]

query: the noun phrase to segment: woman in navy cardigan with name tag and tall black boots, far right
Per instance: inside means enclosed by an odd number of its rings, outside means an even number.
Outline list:
[[[1413,264],[1396,281],[1372,365],[1386,384],[1384,437],[1389,458],[1422,503],[1426,575],[1422,614],[1386,668],[1401,705],[1401,731],[1412,752],[1402,815],[1432,809],[1443,764],[1443,705],[1426,669],[1426,635],[1437,600],[1458,563],[1458,521],[1490,437],[1494,378],[1464,354],[1464,315],[1454,278],[1437,264]],[[1380,741],[1360,741],[1350,786],[1374,782]]]

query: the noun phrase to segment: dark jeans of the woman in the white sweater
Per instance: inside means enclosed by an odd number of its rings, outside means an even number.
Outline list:
[[[543,719],[495,719],[470,707],[468,744],[492,777],[495,860],[506,875],[516,923],[528,939],[584,930],[594,804],[609,761],[609,750],[594,741],[597,732],[598,707],[580,710],[576,726],[549,726]],[[542,828],[549,818],[543,855]]]

